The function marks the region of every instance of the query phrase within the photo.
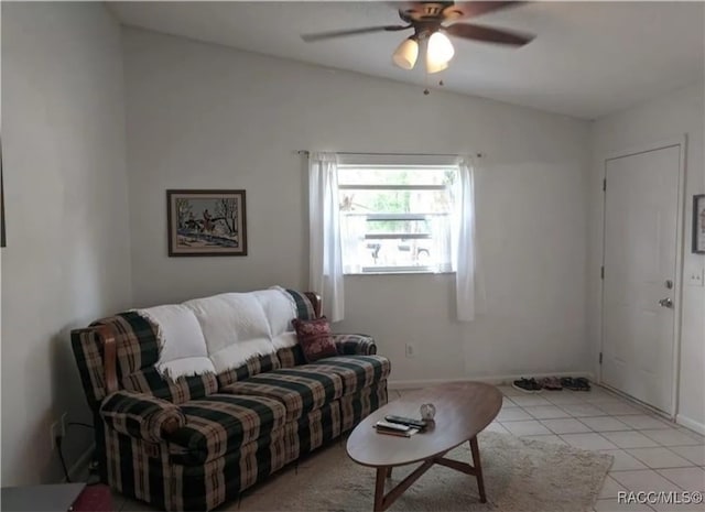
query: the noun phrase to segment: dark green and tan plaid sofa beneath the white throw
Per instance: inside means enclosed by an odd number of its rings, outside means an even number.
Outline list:
[[[300,318],[319,314],[315,295],[288,292]],[[73,330],[101,479],[154,506],[206,511],[351,429],[387,403],[390,363],[370,337],[334,339],[338,356],[314,363],[294,346],[172,380],[154,368],[156,335],[137,313]]]

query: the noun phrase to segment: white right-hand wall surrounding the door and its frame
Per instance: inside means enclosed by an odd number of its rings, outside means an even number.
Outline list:
[[[627,111],[599,119],[593,126],[588,271],[588,319],[593,361],[597,361],[600,344],[601,179],[605,174],[606,155],[687,134],[683,273],[687,274],[698,269],[702,271],[705,266],[705,257],[691,252],[693,195],[705,193],[703,87],[702,83],[694,84]],[[681,305],[679,421],[705,433],[705,288],[684,283]],[[594,371],[597,373],[597,367]]]

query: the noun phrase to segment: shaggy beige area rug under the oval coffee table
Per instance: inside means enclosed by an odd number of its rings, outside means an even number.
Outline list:
[[[482,433],[478,442],[487,503],[478,501],[475,477],[436,465],[388,510],[586,511],[612,464],[610,455],[507,434]],[[447,457],[471,460],[467,443]],[[391,482],[398,483],[415,467],[394,468]],[[246,492],[239,510],[371,511],[375,473],[355,464],[344,443],[332,445]]]

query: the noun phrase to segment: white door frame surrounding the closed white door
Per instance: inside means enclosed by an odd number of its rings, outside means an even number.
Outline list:
[[[671,382],[671,410],[663,411],[671,420],[675,421],[679,410],[679,382],[681,373],[681,324],[682,324],[682,307],[683,301],[683,264],[685,249],[683,247],[684,240],[684,224],[685,224],[685,157],[687,155],[687,134],[684,133],[680,137],[672,139],[665,139],[650,144],[631,146],[620,151],[610,151],[605,154],[603,160],[603,183],[607,179],[607,162],[610,160],[621,159],[625,156],[632,156],[640,153],[648,153],[650,151],[663,150],[666,148],[679,146],[679,182],[677,182],[677,199],[676,199],[676,225],[675,225],[675,275],[673,279],[673,301],[675,303],[673,307],[673,379]],[[605,265],[605,232],[607,225],[607,193],[603,190],[603,225],[601,225],[601,262],[600,265]],[[605,280],[599,280],[599,351],[605,351]],[[609,389],[611,386],[603,382],[603,364],[600,362],[598,367],[598,382]],[[616,390],[619,391],[619,390]],[[647,404],[648,405],[648,404]],[[653,408],[653,407],[652,407]]]

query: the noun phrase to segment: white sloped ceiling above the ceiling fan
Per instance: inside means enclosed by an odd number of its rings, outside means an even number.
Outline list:
[[[303,33],[398,24],[390,2],[115,2],[128,25],[394,80],[425,84],[423,66],[397,68],[410,33],[304,43]],[[521,48],[454,40],[445,88],[595,119],[703,78],[704,3],[532,2],[474,21],[536,34]],[[410,31],[409,31],[410,32]],[[437,80],[434,79],[434,83]]]

